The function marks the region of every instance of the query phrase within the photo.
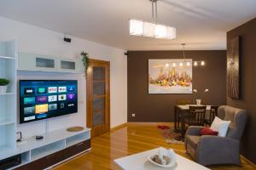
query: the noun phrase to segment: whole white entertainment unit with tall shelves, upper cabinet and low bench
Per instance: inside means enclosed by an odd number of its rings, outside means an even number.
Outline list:
[[[16,42],[0,42],[0,78],[10,80],[6,94],[0,94],[0,161],[21,156],[21,163],[10,169],[45,169],[90,150],[90,128],[67,132],[66,128],[16,143],[17,72],[54,71],[83,73],[79,59],[64,59],[17,52]]]

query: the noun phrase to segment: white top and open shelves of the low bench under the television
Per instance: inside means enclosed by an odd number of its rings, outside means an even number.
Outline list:
[[[21,154],[21,164],[17,166],[20,167],[44,156],[49,156],[57,151],[64,150],[74,144],[89,140],[90,128],[84,127],[84,130],[80,132],[67,132],[67,129],[65,128],[50,133],[44,133],[42,135],[44,136],[44,139],[36,140],[34,137],[24,139],[23,141],[25,143],[18,144],[15,150],[9,148],[9,150],[1,151],[0,160]],[[2,150],[1,147],[0,150]]]

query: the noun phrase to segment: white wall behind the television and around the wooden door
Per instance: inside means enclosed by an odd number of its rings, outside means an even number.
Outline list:
[[[86,28],[84,28],[86,29]],[[111,127],[127,122],[127,59],[125,50],[112,48],[100,43],[72,37],[72,42],[63,41],[64,34],[38,26],[27,25],[15,20],[0,17],[0,41],[16,40],[18,51],[77,58],[81,51],[90,54],[90,58],[110,61],[110,113]],[[85,125],[86,87],[84,75],[18,72],[19,79],[77,79],[79,81],[79,112],[68,116],[49,119],[49,131]],[[24,137],[44,133],[46,121],[30,122],[18,125]]]

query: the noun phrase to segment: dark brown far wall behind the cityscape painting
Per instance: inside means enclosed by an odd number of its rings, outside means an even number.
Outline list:
[[[128,122],[173,122],[177,99],[193,99],[192,94],[148,94],[148,59],[181,59],[182,51],[128,52]],[[226,51],[186,51],[193,60],[206,65],[193,67],[193,88],[209,88],[207,104],[226,104]],[[131,114],[136,116],[132,117]]]

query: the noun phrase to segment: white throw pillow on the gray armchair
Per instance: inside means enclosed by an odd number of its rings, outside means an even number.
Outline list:
[[[211,129],[218,132],[218,136],[225,137],[230,127],[230,121],[224,121],[216,116],[212,122]]]

